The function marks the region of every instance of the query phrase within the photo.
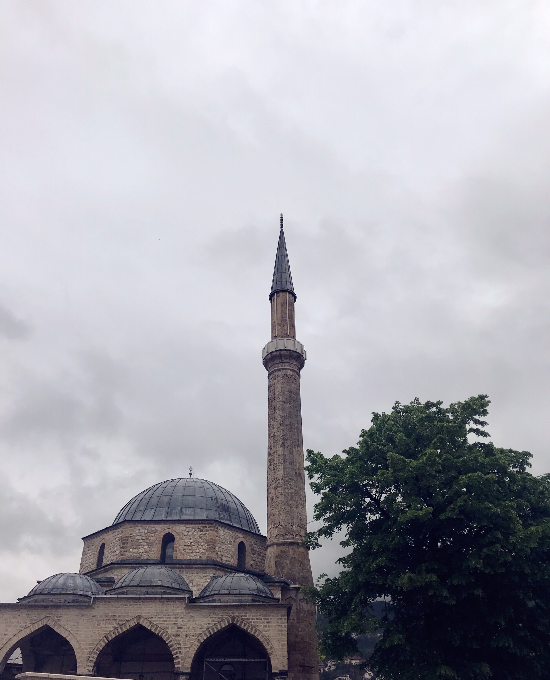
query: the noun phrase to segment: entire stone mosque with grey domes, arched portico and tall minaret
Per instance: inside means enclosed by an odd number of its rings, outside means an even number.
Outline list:
[[[156,483],[84,537],[80,572],[0,604],[0,680],[317,680],[296,340],[283,216],[268,373],[267,536],[205,479]],[[21,675],[22,674],[22,675]]]

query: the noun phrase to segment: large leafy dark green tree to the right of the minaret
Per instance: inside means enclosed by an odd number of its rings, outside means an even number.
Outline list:
[[[345,456],[307,451],[323,524],[306,542],[343,530],[349,550],[309,589],[324,653],[383,628],[369,664],[387,679],[550,678],[550,475],[483,441],[488,405],[396,403]]]

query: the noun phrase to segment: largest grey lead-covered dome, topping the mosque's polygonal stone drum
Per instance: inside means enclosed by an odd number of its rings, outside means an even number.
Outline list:
[[[258,523],[237,496],[196,477],[167,479],[134,496],[113,524],[126,520],[218,520],[260,533]]]

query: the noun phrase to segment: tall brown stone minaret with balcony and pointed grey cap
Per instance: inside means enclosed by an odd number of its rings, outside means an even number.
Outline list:
[[[262,352],[269,379],[267,419],[267,546],[265,571],[292,581],[281,599],[292,604],[288,621],[288,675],[319,677],[315,607],[300,593],[313,585],[309,552],[300,545],[307,532],[300,371],[306,353],[296,340],[296,293],[286,251],[283,216],[271,302],[271,341]]]

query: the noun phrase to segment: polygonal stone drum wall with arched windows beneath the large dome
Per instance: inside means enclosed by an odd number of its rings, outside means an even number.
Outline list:
[[[96,568],[101,543],[105,543],[103,564],[117,560],[158,560],[162,537],[167,533],[175,538],[175,560],[218,560],[237,566],[237,545],[243,541],[247,568],[264,571],[265,537],[221,522],[180,520],[122,522],[85,537],[80,573]]]

